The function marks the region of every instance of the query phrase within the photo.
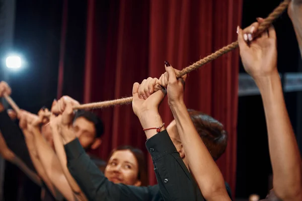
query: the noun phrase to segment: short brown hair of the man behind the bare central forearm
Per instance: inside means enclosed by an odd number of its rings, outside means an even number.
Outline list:
[[[213,159],[217,160],[228,144],[228,133],[223,129],[223,125],[211,116],[190,109],[188,112],[206,148]]]

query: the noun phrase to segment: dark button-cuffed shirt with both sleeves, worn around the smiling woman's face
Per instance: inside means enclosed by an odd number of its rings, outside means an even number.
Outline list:
[[[137,187],[109,181],[78,139],[65,145],[67,167],[89,200],[204,200],[167,131],[146,141],[158,185]]]

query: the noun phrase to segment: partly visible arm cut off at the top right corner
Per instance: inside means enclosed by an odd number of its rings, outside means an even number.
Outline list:
[[[292,0],[287,13],[291,19],[302,56],[302,0]]]

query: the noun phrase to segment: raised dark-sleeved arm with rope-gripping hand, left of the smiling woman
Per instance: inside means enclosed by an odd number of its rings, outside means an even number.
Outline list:
[[[136,187],[115,184],[109,181],[96,164],[85,153],[79,139],[72,130],[72,106],[79,104],[76,100],[63,96],[51,112],[62,115],[60,135],[65,144],[67,167],[89,200],[150,200],[149,187]],[[161,199],[159,199],[161,200]]]

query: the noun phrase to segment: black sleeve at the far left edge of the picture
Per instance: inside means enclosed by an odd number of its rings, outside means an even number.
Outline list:
[[[6,111],[0,112],[0,131],[12,152],[14,152],[28,168],[36,172],[25,143],[24,135]]]

